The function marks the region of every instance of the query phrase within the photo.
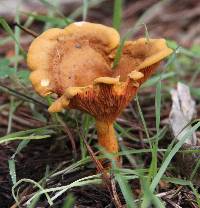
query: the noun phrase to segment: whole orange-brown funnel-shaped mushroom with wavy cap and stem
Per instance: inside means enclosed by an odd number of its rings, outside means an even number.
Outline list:
[[[119,150],[113,128],[116,118],[160,61],[172,53],[164,39],[127,41],[112,69],[119,41],[111,27],[75,22],[42,33],[27,57],[35,90],[41,96],[59,97],[49,112],[78,109],[92,115],[98,143],[109,153]]]

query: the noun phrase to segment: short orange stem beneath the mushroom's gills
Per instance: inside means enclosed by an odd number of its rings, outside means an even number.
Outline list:
[[[96,121],[98,144],[105,148],[108,153],[117,153],[119,150],[118,141],[115,135],[112,122]],[[115,158],[118,160],[118,157]]]

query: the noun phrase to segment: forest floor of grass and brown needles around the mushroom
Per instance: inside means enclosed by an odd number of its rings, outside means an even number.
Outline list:
[[[13,193],[21,207],[50,207],[52,200],[54,208],[111,208],[117,206],[113,196],[124,207],[127,201],[127,207],[145,207],[140,205],[143,197],[155,200],[149,207],[159,207],[158,198],[165,207],[200,207],[200,164],[187,159],[195,154],[198,163],[200,150],[194,146],[176,150],[169,125],[170,92],[181,82],[196,103],[196,120],[189,131],[191,136],[196,130],[199,144],[200,2],[124,1],[121,35],[139,21],[133,39],[144,37],[141,23],[145,23],[150,37],[166,38],[175,52],[117,119],[123,167],[113,167],[112,177],[104,185],[83,142],[84,138],[94,152],[98,151],[94,120],[75,110],[48,113],[50,100],[34,92],[21,50],[26,53],[33,37],[15,24],[37,34],[50,27],[64,27],[64,16],[82,20],[82,1],[61,0],[60,5],[46,0],[23,5],[13,2],[0,2],[0,208],[17,207]],[[112,25],[113,1],[91,2],[86,20]],[[156,141],[153,155],[150,144]],[[180,157],[181,151],[187,156]],[[152,161],[156,170],[152,170]],[[148,188],[152,182],[157,183],[154,193]],[[44,194],[35,196],[39,189],[49,190],[50,199]]]

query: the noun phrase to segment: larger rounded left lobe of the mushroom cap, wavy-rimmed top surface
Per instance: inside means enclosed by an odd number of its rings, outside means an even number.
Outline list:
[[[62,95],[66,88],[86,86],[100,76],[111,76],[108,54],[118,46],[119,34],[88,22],[45,31],[31,44],[27,64],[30,80],[42,96]]]

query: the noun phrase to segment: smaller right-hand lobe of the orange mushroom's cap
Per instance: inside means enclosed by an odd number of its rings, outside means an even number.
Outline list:
[[[125,81],[127,74],[133,70],[147,74],[148,67],[155,64],[156,68],[160,61],[171,53],[172,49],[167,47],[165,39],[140,38],[136,41],[126,41],[114,76],[120,75],[120,80]]]

